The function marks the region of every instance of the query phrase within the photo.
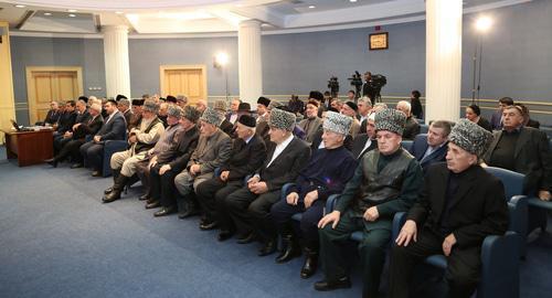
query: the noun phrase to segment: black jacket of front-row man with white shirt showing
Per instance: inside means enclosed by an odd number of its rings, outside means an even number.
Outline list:
[[[269,147],[265,162],[257,171],[268,191],[280,190],[285,183],[295,181],[310,159],[309,146],[304,140],[294,137],[286,149],[267,167],[275,149],[276,145]]]

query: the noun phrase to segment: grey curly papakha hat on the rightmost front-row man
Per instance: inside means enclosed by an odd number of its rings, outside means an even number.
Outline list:
[[[467,119],[460,119],[448,136],[450,142],[477,157],[487,151],[492,139],[491,132]]]

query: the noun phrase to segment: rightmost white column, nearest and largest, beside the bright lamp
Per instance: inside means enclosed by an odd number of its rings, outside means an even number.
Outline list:
[[[426,1],[425,121],[460,115],[461,0]]]

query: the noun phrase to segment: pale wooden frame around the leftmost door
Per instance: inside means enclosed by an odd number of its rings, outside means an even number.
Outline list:
[[[35,85],[33,79],[34,72],[76,72],[76,84],[78,88],[78,95],[84,95],[83,88],[83,67],[81,66],[26,66],[26,103],[29,106],[29,123],[34,124],[38,119],[34,119],[33,110],[36,109],[36,98],[34,96]],[[77,98],[73,98],[76,100]]]

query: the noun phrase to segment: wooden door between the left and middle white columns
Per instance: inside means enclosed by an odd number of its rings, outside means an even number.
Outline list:
[[[204,65],[160,66],[161,95],[185,95],[189,104],[206,99],[206,73]]]

